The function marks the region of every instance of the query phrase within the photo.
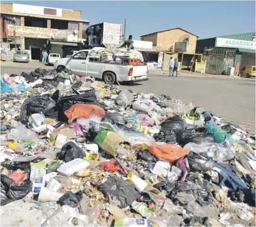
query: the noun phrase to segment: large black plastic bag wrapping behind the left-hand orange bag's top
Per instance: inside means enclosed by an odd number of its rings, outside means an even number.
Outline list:
[[[99,105],[99,101],[95,95],[95,90],[88,90],[82,95],[68,95],[58,99],[58,120],[67,122],[68,117],[65,115],[65,111],[68,110],[72,105],[77,103],[83,104],[95,104]]]

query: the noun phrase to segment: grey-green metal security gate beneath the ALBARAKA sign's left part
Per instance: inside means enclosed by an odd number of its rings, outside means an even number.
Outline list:
[[[205,73],[225,74],[228,67],[235,67],[235,49],[209,47],[203,52],[203,60],[206,61]]]

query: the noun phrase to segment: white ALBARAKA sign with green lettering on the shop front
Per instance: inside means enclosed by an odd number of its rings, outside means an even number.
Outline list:
[[[227,38],[216,38],[216,46],[256,50],[256,41],[233,40],[233,39],[227,39]]]

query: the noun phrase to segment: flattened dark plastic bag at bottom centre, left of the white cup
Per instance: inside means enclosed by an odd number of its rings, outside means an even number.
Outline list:
[[[134,189],[134,186],[112,176],[108,177],[107,181],[100,184],[98,190],[109,195],[111,199],[120,201],[121,208],[130,206],[139,196],[139,193]]]

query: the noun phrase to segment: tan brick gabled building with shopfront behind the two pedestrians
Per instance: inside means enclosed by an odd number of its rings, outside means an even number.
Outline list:
[[[147,50],[147,58],[155,59],[158,53],[158,68],[163,70],[168,70],[171,56],[178,59],[179,70],[189,69],[191,60],[201,61],[201,55],[195,55],[197,38],[195,34],[181,28],[141,36],[142,41],[152,42],[153,48],[151,51]]]

